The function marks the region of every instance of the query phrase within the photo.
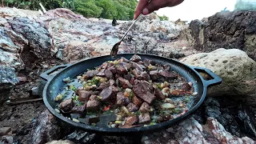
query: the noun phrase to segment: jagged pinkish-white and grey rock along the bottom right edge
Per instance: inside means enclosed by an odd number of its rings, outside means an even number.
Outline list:
[[[194,118],[188,118],[167,130],[142,137],[142,143],[254,143],[248,137],[238,138],[227,132],[214,118],[207,118],[204,126]]]

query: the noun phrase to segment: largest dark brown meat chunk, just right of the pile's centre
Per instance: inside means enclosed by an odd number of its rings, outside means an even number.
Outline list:
[[[142,98],[145,102],[153,102],[155,96],[150,93],[150,89],[142,83],[138,83],[133,87],[134,93],[138,95],[139,98]]]

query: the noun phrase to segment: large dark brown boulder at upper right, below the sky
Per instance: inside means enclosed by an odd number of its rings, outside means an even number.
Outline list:
[[[256,11],[218,12],[206,22],[190,22],[190,30],[197,50],[240,49],[256,60]]]

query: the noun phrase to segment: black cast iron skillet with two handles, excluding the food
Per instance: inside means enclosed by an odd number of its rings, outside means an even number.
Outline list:
[[[127,58],[130,59],[134,54],[118,54],[117,58]],[[52,114],[54,114],[55,117],[60,118],[62,121],[69,123],[72,126],[76,126],[78,128],[81,128],[83,130],[98,134],[142,134],[142,133],[148,133],[150,131],[156,131],[156,130],[162,130],[166,129],[170,126],[174,126],[174,124],[177,124],[178,122],[182,122],[185,118],[187,118],[190,114],[192,114],[195,110],[198,109],[198,106],[202,104],[204,99],[206,98],[206,90],[208,86],[217,85],[222,82],[222,79],[219,78],[216,74],[214,74],[212,71],[201,68],[201,67],[194,67],[194,66],[186,66],[185,64],[182,64],[181,62],[175,61],[170,58],[163,58],[156,55],[150,55],[150,54],[138,54],[142,59],[148,58],[154,62],[160,62],[162,64],[169,64],[170,69],[178,72],[181,76],[185,77],[188,82],[192,82],[194,86],[194,92],[197,92],[195,102],[193,106],[186,112],[186,114],[183,114],[182,116],[178,118],[174,118],[168,122],[162,122],[158,125],[154,126],[146,126],[146,127],[136,127],[136,128],[129,128],[129,129],[123,129],[123,128],[102,128],[98,126],[89,126],[83,123],[73,122],[72,120],[65,118],[61,114],[58,114],[54,108],[56,106],[56,102],[54,101],[54,98],[58,93],[60,93],[63,90],[63,87],[65,86],[65,83],[62,82],[64,78],[70,77],[70,78],[76,78],[79,74],[82,74],[86,71],[86,69],[94,68],[95,66],[100,66],[103,62],[110,61],[110,56],[102,56],[97,58],[90,58],[83,60],[81,62],[77,62],[72,65],[64,65],[64,66],[56,66],[51,70],[47,70],[43,74],[41,74],[41,78],[45,79],[47,81],[46,86],[44,87],[42,96],[43,101],[47,107],[48,110]],[[61,70],[58,74],[54,76],[50,76],[51,73],[53,73],[55,70],[58,70],[59,68],[64,68]],[[202,76],[198,72],[206,72],[210,75],[212,79],[210,80],[204,80]]]

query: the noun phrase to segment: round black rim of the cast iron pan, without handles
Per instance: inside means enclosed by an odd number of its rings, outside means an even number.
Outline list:
[[[134,127],[134,128],[102,128],[102,127],[98,127],[98,126],[89,126],[89,125],[74,122],[74,121],[72,121],[68,118],[65,118],[61,114],[58,114],[57,111],[54,110],[54,108],[52,106],[50,106],[50,103],[47,100],[47,90],[49,89],[49,85],[54,80],[54,78],[58,78],[58,75],[61,74],[61,73],[58,73],[58,74],[55,74],[52,78],[48,79],[48,81],[46,82],[46,85],[44,86],[43,92],[42,92],[43,102],[45,103],[47,110],[49,110],[51,114],[54,114],[55,117],[61,119],[62,121],[67,122],[72,126],[82,128],[83,130],[91,131],[93,133],[127,134],[127,133],[138,133],[138,132],[143,133],[143,132],[147,132],[147,131],[150,131],[150,130],[160,130],[160,129],[163,129],[163,128],[168,128],[170,126],[173,126],[177,122],[182,122],[183,120],[185,120],[187,117],[189,117],[191,114],[193,114],[194,111],[197,110],[199,106],[202,105],[202,102],[206,98],[207,86],[206,86],[206,84],[205,84],[205,82],[202,78],[202,75],[199,74],[197,70],[194,70],[190,66],[187,66],[186,64],[184,64],[182,62],[178,62],[178,60],[175,60],[175,59],[172,59],[172,58],[166,58],[166,57],[162,57],[162,56],[158,56],[158,55],[154,55],[154,54],[140,54],[140,53],[126,53],[126,54],[138,54],[138,55],[150,56],[150,57],[154,57],[154,58],[164,58],[164,59],[166,59],[166,61],[174,61],[174,62],[177,62],[180,65],[186,66],[186,69],[192,70],[198,76],[198,78],[200,79],[200,82],[202,83],[202,86],[203,86],[203,88],[202,88],[202,97],[200,98],[200,100],[193,107],[191,107],[189,110],[187,110],[187,112],[185,114],[182,114],[182,116],[179,116],[178,118],[174,118],[170,121],[159,123],[157,125]],[[118,56],[122,56],[122,55],[126,55],[126,54],[118,54]],[[98,56],[98,57],[94,57],[94,58],[82,59],[78,62],[75,62],[75,63],[71,64],[70,66],[67,66],[63,70],[69,69],[70,67],[75,66],[80,62],[85,62],[85,61],[90,60],[90,59],[97,59],[97,58],[102,58],[102,57],[110,57],[110,55],[103,55],[103,56]]]

